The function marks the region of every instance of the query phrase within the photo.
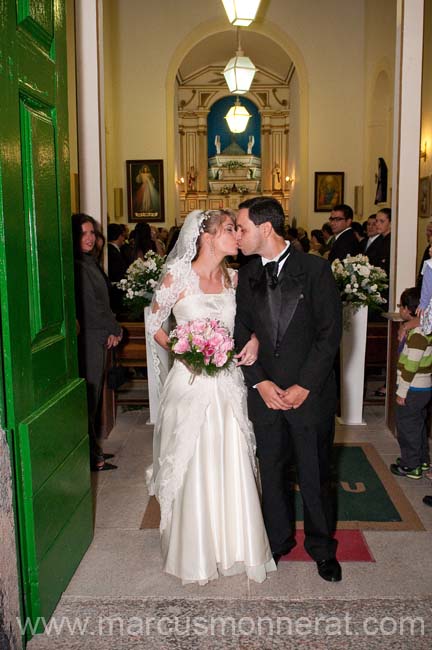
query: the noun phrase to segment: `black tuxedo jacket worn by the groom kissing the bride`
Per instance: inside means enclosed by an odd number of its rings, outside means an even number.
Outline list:
[[[277,291],[277,296],[271,296],[271,291]],[[261,258],[242,267],[236,345],[241,349],[252,332],[260,342],[258,360],[242,366],[247,386],[252,388],[265,379],[281,388],[298,384],[310,391],[305,408],[334,408],[333,365],[341,313],[339,292],[326,260],[292,248],[274,290],[267,286]],[[249,408],[253,420],[268,420],[276,413],[267,409],[256,390],[249,391]]]

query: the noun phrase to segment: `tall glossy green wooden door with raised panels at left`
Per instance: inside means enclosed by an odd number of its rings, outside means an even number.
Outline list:
[[[0,299],[24,612],[48,617],[92,537],[78,379],[64,0],[0,0]]]

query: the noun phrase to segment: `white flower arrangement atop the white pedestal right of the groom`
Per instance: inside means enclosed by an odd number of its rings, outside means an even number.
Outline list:
[[[366,255],[348,255],[342,262],[334,260],[331,266],[342,303],[353,311],[363,306],[379,309],[387,302],[381,295],[388,287],[387,273],[372,266]]]

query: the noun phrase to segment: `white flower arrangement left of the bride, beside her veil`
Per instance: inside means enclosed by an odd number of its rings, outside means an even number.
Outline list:
[[[132,317],[141,317],[152,300],[165,258],[148,251],[129,266],[126,277],[116,286],[124,292],[123,303]]]

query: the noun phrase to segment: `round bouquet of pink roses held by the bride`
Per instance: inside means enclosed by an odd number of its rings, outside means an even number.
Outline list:
[[[192,373],[213,376],[227,368],[234,356],[234,340],[220,321],[202,318],[177,325],[168,345]]]

